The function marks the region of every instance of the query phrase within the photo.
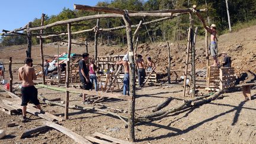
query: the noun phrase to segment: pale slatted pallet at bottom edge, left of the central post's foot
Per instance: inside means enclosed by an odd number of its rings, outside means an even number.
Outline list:
[[[104,143],[104,144],[132,144],[130,142],[126,142],[124,140],[116,139],[114,137],[110,137],[107,135],[103,135],[102,133],[94,133],[92,136],[85,136],[85,139],[88,139],[89,141],[93,143]]]

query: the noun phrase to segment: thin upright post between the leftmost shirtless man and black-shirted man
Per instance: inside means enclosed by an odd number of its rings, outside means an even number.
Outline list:
[[[68,60],[66,65],[66,88],[69,87],[69,71],[71,55],[71,24],[68,24]],[[66,91],[65,119],[68,119],[69,91]]]

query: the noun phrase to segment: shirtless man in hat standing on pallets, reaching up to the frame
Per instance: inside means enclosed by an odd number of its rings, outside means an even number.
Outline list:
[[[214,60],[214,63],[213,63],[212,66],[217,66],[217,65],[219,65],[219,62],[217,60],[217,37],[216,37],[217,31],[216,31],[216,25],[212,24],[212,25],[210,25],[210,27],[206,26],[205,21],[203,20],[203,18],[199,14],[199,12],[196,12],[196,14],[197,14],[197,17],[199,17],[199,19],[201,20],[201,23],[203,23],[203,27],[208,31],[208,33],[211,34],[211,36],[210,36],[210,40],[211,40],[210,52],[211,52],[211,54],[213,56],[213,60]]]

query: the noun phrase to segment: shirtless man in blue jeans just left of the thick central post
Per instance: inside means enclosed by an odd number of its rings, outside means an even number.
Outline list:
[[[128,91],[128,95],[130,95],[129,92],[129,57],[128,55],[124,55],[123,60],[120,60],[116,62],[116,65],[123,65],[124,66],[124,78],[123,78],[123,95],[126,95],[126,91]]]

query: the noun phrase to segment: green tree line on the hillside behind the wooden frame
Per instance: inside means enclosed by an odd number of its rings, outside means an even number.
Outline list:
[[[208,8],[209,12],[202,14],[205,20],[207,20],[207,14],[210,18],[210,24],[215,23],[217,30],[222,33],[223,30],[228,28],[228,18],[226,12],[225,0],[112,0],[98,2],[97,6],[128,9],[133,11],[148,11],[159,9],[184,9],[191,8],[196,4],[198,8]],[[256,12],[256,1],[251,0],[229,0],[229,13],[231,15],[231,24],[244,23],[254,19]],[[207,7],[206,7],[207,5]],[[97,12],[87,12],[81,10],[71,10],[63,8],[62,12],[58,15],[46,15],[44,24],[55,23],[60,20],[68,20],[70,18],[83,17],[86,15],[94,15]],[[199,34],[203,34],[204,30],[201,28],[201,23],[196,16],[194,25],[199,26]],[[151,21],[155,18],[132,18],[132,24],[138,24],[140,20]],[[206,21],[207,22],[207,21]],[[39,26],[41,23],[40,18],[35,18],[32,21],[33,27]],[[139,41],[144,43],[148,41],[165,41],[165,40],[184,40],[187,35],[187,27],[189,26],[188,15],[181,15],[171,20],[162,21],[151,25],[143,26],[139,31]],[[94,27],[96,20],[81,21],[72,26],[72,31],[86,30]],[[124,25],[121,18],[104,18],[100,20],[101,28],[111,28]],[[148,31],[147,31],[148,29]],[[56,27],[47,28],[44,33],[60,33],[67,31],[66,25],[58,25]],[[39,33],[39,31],[33,31],[33,33]],[[94,40],[93,32],[74,34],[73,39],[88,39]],[[125,30],[117,30],[108,33],[100,33],[100,41],[102,43],[121,43],[126,41]],[[55,37],[55,39],[46,39],[45,42],[53,42],[56,39],[64,40],[66,36]],[[24,36],[5,36],[0,39],[2,46],[11,46],[17,44],[27,43],[27,39]],[[33,37],[33,44],[38,44],[39,39]]]

